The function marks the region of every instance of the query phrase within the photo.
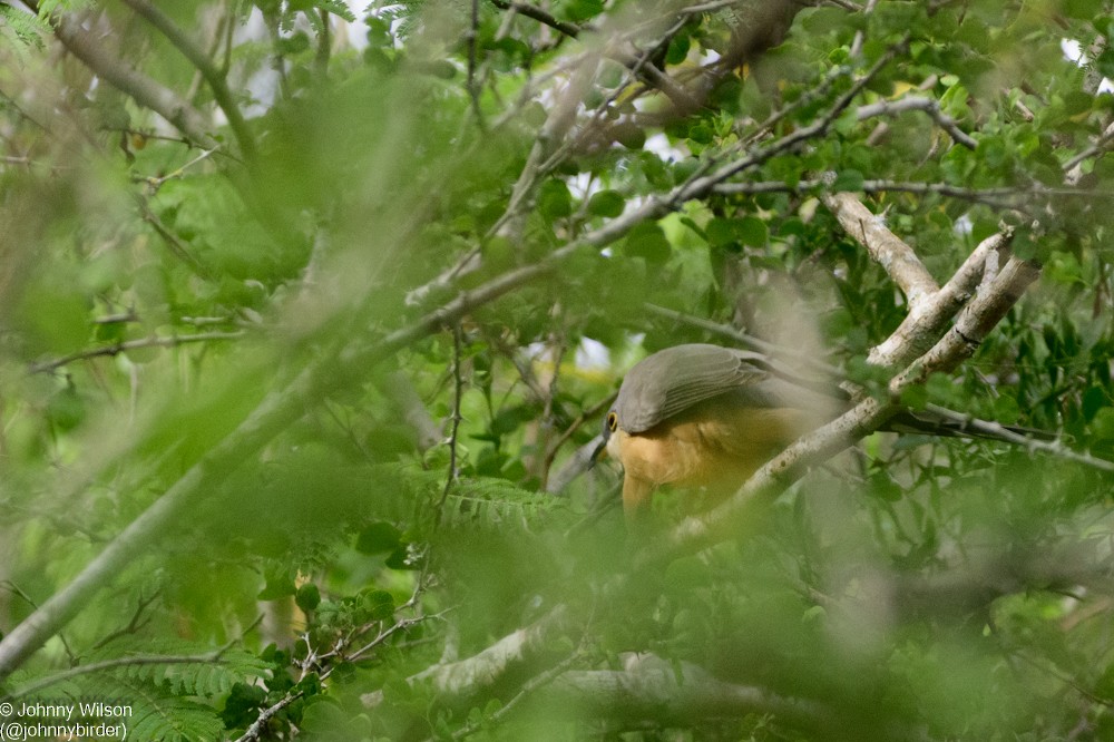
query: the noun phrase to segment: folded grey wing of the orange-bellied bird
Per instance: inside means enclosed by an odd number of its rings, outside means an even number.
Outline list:
[[[637,363],[619,387],[619,427],[638,433],[729,391],[754,407],[792,406],[792,387],[771,377],[764,357],[709,344],[677,345]]]

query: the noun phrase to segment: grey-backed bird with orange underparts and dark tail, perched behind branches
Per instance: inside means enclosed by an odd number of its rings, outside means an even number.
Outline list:
[[[844,409],[850,394],[751,351],[675,345],[636,363],[603,421],[605,452],[623,466],[628,524],[645,523],[662,485],[725,496],[802,435]],[[974,436],[955,422],[900,413],[888,429]],[[1007,427],[1023,433],[1042,433]]]

